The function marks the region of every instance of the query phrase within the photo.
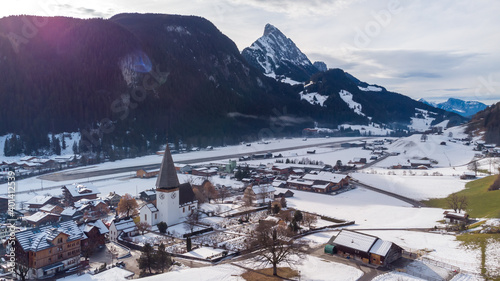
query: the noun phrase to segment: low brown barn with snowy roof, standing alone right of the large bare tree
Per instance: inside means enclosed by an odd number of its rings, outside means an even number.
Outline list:
[[[328,241],[325,252],[375,266],[385,266],[399,259],[403,249],[378,237],[343,229]]]

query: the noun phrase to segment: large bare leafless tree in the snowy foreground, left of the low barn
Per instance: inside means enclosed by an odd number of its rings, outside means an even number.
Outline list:
[[[270,221],[259,222],[255,229],[251,243],[252,247],[257,249],[255,259],[263,264],[272,264],[274,276],[278,275],[278,264],[292,265],[297,263],[293,256],[303,256],[305,243],[293,239],[292,235],[286,227]]]

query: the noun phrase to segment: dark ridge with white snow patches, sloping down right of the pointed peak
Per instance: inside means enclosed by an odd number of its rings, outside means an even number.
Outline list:
[[[465,121],[455,113],[369,85],[341,69],[314,74],[300,95],[304,102],[316,105],[318,112],[325,111],[325,120],[333,124],[376,123],[393,129],[409,126],[425,131],[444,120],[450,120],[448,126]]]

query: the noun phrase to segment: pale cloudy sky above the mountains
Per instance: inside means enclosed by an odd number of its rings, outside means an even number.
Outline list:
[[[198,15],[238,48],[279,28],[311,61],[419,99],[500,101],[500,1],[26,0],[0,16],[104,17],[123,12]]]

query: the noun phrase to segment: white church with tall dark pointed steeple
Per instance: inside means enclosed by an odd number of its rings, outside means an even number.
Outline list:
[[[156,225],[166,222],[168,226],[182,222],[196,211],[198,200],[190,183],[179,183],[170,149],[165,149],[156,180],[156,206],[146,204],[139,210],[141,222]]]

